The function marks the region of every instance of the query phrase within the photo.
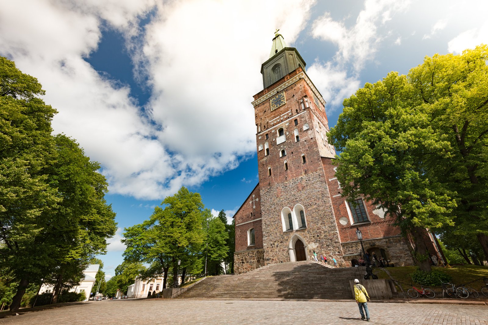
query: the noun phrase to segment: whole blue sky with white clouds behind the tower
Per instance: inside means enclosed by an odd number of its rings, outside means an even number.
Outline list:
[[[39,79],[65,133],[102,164],[119,231],[181,186],[231,217],[257,184],[252,95],[276,28],[296,47],[334,126],[342,101],[425,55],[488,43],[486,1],[17,0],[0,55]]]

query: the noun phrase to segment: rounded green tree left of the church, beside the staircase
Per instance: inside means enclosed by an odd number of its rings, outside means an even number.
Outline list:
[[[200,194],[191,193],[185,187],[165,198],[162,205],[164,209],[157,206],[149,220],[125,228],[122,242],[127,246],[125,259],[151,264],[145,272],[146,278],[163,274],[163,288],[166,288],[170,269],[173,278],[177,278],[178,260],[182,263],[180,267],[185,268],[200,253],[205,212]]]

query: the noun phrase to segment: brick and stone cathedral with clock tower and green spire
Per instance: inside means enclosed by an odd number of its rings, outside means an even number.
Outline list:
[[[413,265],[411,244],[392,217],[362,197],[341,196],[325,100],[302,56],[278,32],[261,73],[264,89],[252,102],[259,183],[234,216],[234,271],[309,260],[314,251],[354,265],[362,255],[358,228],[367,253]]]

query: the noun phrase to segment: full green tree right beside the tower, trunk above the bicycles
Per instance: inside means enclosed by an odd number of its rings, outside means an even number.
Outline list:
[[[425,228],[452,225],[453,193],[439,180],[439,163],[450,157],[447,138],[418,109],[422,98],[407,77],[390,72],[344,100],[329,139],[343,151],[337,159],[342,195],[362,194],[396,217],[415,241],[414,257],[430,271]]]

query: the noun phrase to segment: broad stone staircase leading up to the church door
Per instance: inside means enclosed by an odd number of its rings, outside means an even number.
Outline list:
[[[270,264],[205,278],[178,299],[352,299],[349,280],[363,275],[363,268],[334,269],[312,261]]]

